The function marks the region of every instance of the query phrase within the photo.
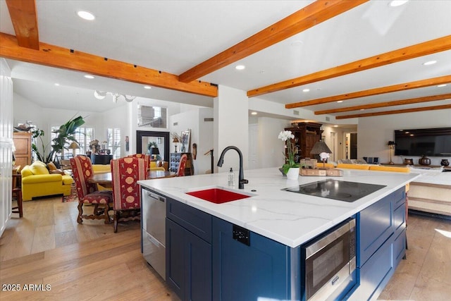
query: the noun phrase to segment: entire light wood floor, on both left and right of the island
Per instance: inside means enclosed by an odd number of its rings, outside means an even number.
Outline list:
[[[76,222],[77,203],[24,202],[0,238],[0,300],[178,300],[142,258],[140,223]],[[451,300],[451,221],[409,216],[407,260],[379,300]],[[50,290],[24,291],[24,285]]]

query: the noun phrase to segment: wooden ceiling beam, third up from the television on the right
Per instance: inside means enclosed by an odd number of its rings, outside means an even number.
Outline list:
[[[338,102],[339,100],[354,99],[359,97],[367,97],[378,94],[385,94],[391,92],[399,92],[405,90],[418,89],[421,87],[430,87],[433,85],[447,84],[451,82],[451,75],[444,75],[438,78],[428,78],[426,80],[416,80],[414,82],[404,82],[402,84],[391,85],[386,87],[378,87],[359,92],[351,92],[346,94],[334,95],[330,97],[323,97],[317,99],[307,100],[305,102],[295,102],[292,104],[285,104],[285,109],[299,108],[299,106],[313,106],[315,104],[327,104],[329,102]]]

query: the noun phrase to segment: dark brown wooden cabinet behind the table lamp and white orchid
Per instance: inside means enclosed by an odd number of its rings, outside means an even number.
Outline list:
[[[291,130],[291,133],[295,135],[293,143],[295,145],[296,161],[304,158],[314,158],[314,154],[310,154],[311,149],[315,143],[321,140],[321,124],[320,123],[297,123],[296,127],[285,128],[285,130]]]

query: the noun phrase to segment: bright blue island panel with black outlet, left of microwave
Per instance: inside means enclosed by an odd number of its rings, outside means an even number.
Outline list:
[[[299,247],[237,230],[215,217],[212,247],[212,300],[300,300]]]

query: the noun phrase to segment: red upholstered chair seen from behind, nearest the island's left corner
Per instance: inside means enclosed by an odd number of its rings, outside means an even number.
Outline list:
[[[114,232],[118,232],[118,221],[141,219],[141,193],[138,180],[147,176],[144,159],[126,156],[111,160],[113,182]]]

